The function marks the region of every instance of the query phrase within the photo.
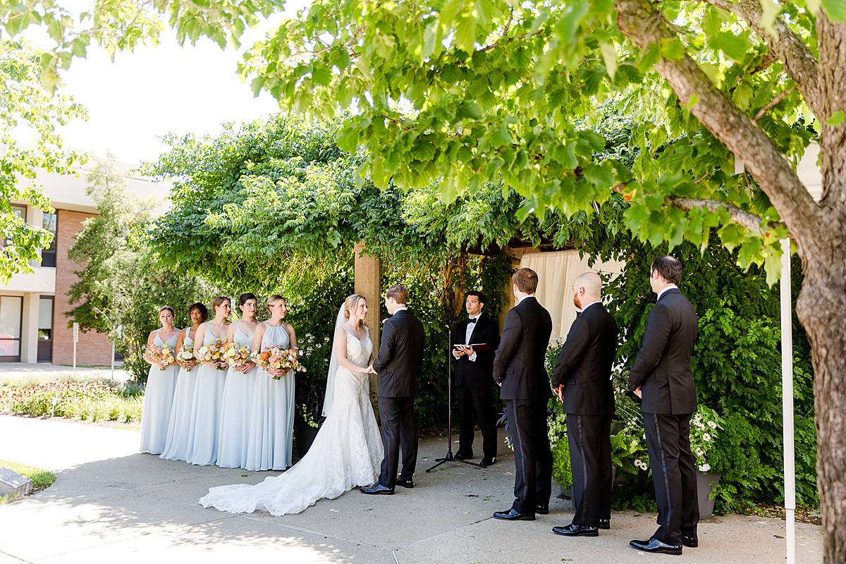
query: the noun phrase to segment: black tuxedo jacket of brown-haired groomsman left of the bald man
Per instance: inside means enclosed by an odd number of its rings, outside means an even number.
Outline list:
[[[529,296],[508,310],[493,359],[493,379],[503,386],[502,399],[552,397],[544,356],[552,334],[552,317]]]

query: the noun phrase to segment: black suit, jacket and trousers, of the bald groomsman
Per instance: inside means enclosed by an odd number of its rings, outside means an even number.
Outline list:
[[[611,518],[611,367],[616,354],[617,321],[602,304],[591,304],[570,326],[552,373],[552,387],[564,386],[573,523],[587,527]]]

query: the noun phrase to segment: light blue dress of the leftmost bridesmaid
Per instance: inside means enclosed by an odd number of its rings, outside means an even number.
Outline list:
[[[167,341],[159,337],[161,329],[156,331],[153,344],[158,348],[165,344],[173,349],[176,355],[176,337],[179,331],[174,331],[173,336]],[[147,375],[147,385],[144,391],[144,412],[141,413],[141,452],[150,454],[161,454],[164,451],[165,443],[168,441],[168,425],[170,423],[170,412],[173,407],[173,389],[176,387],[176,376],[179,373],[179,364],[168,366],[162,370],[156,364],[150,365],[150,372]]]

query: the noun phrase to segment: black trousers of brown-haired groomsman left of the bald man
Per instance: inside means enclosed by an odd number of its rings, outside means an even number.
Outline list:
[[[515,511],[534,515],[548,506],[552,493],[552,452],[547,432],[546,399],[505,400],[508,430],[514,446]]]

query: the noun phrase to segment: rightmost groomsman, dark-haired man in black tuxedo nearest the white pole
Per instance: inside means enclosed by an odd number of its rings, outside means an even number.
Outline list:
[[[642,398],[640,410],[658,502],[658,530],[629,545],[645,552],[680,555],[698,545],[696,469],[690,452],[690,416],[696,386],[690,354],[696,341],[696,311],[678,291],[682,265],[672,256],[652,262],[649,282],[658,294],[646,318],[640,353],[629,372],[629,387]]]

